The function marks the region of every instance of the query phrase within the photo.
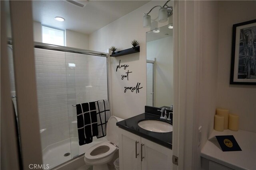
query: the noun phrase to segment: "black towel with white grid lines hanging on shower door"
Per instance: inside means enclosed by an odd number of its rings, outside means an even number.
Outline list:
[[[97,114],[95,102],[76,105],[79,145],[92,142],[92,137],[98,135]]]

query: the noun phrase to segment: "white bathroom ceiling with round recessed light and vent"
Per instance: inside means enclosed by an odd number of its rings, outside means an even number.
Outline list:
[[[59,29],[90,34],[148,3],[148,0],[77,0],[84,7],[66,0],[33,0],[34,21]],[[54,20],[59,16],[64,22]],[[141,16],[142,17],[142,16]]]

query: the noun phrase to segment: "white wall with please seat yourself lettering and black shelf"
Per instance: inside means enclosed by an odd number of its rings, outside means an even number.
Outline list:
[[[165,2],[151,1],[90,34],[89,47],[90,50],[94,51],[105,51],[112,45],[116,46],[118,51],[128,49],[132,47],[130,42],[133,39],[140,43],[140,53],[116,58],[111,57],[110,59],[112,115],[125,119],[144,112],[144,106],[146,105],[146,31],[149,31],[150,28],[143,28],[142,13],[148,12],[153,6],[163,5]],[[158,16],[158,10],[154,9],[150,15],[151,19],[155,20]],[[152,27],[161,27],[171,23],[171,21],[171,18],[166,23],[161,24],[154,21]],[[121,60],[121,64],[128,64],[129,71],[132,71],[129,74],[129,81],[121,80],[121,75],[125,74],[125,70],[120,69],[116,72],[119,60]],[[124,86],[136,86],[137,82],[140,82],[143,87],[140,89],[140,93],[136,94],[129,91],[124,93]]]

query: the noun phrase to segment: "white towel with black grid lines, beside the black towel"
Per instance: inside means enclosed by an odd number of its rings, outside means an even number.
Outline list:
[[[99,100],[95,102],[97,119],[98,119],[98,135],[97,138],[106,136],[106,125],[110,117],[110,107],[108,100]]]

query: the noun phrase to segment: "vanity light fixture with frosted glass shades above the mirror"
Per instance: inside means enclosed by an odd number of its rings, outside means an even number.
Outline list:
[[[159,22],[166,22],[167,18],[172,15],[172,6],[168,6],[167,3],[170,0],[166,1],[166,3],[163,6],[157,5],[151,8],[151,10],[148,13],[143,13],[145,16],[143,17],[143,27],[148,28],[151,26],[151,16],[148,15],[154,8],[160,7],[159,14],[158,14],[158,21]]]

